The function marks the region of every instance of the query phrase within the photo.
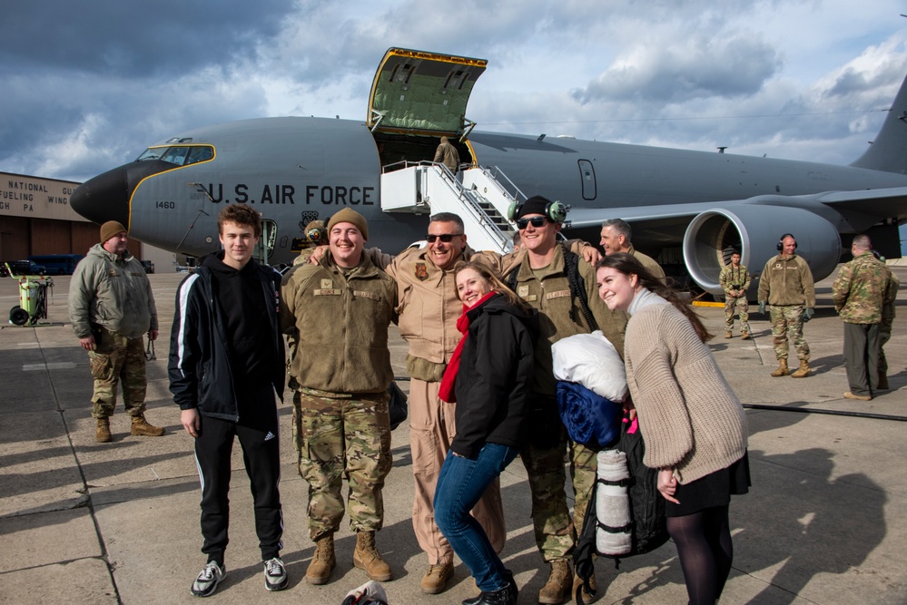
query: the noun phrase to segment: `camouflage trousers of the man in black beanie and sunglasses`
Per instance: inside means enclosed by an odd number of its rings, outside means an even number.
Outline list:
[[[536,546],[547,562],[568,559],[583,527],[592,488],[596,483],[596,451],[567,439],[567,431],[554,447],[540,448],[529,444],[520,452],[532,495],[532,526]],[[570,519],[567,506],[564,470],[565,454],[570,459],[575,506]],[[576,529],[575,529],[576,528]]]

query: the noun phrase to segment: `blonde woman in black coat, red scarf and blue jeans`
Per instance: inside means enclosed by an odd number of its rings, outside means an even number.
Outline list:
[[[457,293],[463,338],[439,390],[457,403],[457,435],[435,489],[435,522],[482,591],[464,604],[509,605],[517,602],[513,574],[469,511],[526,443],[537,315],[477,263],[458,267]]]

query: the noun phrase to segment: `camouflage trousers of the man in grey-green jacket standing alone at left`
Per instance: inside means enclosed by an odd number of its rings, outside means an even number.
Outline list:
[[[127,338],[103,327],[94,351],[88,352],[94,377],[92,416],[109,418],[116,406],[116,384],[123,384],[123,405],[131,416],[145,411],[144,338]]]

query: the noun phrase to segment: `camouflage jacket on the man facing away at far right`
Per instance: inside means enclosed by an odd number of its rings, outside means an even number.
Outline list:
[[[866,251],[838,271],[832,284],[834,308],[848,324],[882,322],[882,307],[897,293],[892,272]]]

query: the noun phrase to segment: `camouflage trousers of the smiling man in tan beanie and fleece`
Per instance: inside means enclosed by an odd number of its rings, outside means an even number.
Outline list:
[[[309,483],[309,536],[337,532],[343,477],[349,483],[350,529],[377,532],[384,523],[381,490],[390,472],[387,392],[352,397],[293,397],[299,469]]]

